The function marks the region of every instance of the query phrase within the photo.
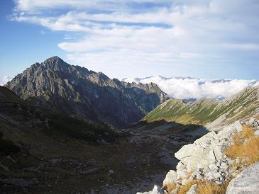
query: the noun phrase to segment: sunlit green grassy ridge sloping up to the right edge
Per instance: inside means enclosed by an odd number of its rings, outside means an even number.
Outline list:
[[[226,125],[234,120],[248,118],[259,111],[259,86],[249,86],[224,101],[214,98],[200,99],[194,103],[184,103],[170,99],[148,113],[142,122],[177,122],[206,127]],[[208,124],[209,125],[206,125]]]

